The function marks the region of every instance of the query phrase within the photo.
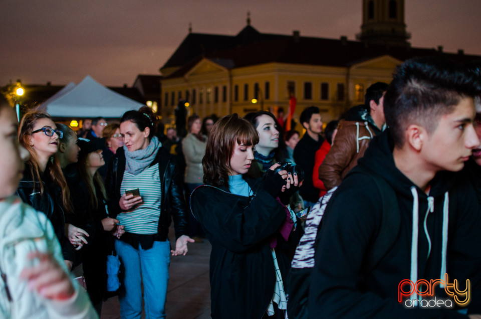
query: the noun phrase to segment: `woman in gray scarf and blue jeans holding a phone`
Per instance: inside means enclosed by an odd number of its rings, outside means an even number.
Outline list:
[[[115,242],[124,267],[120,313],[122,318],[140,318],[143,282],[146,316],[163,318],[170,253],[185,255],[187,242],[193,242],[187,236],[182,180],[169,150],[155,136],[150,108],[128,111],[120,122],[124,146],[112,157],[106,178],[109,211],[117,214],[124,227]],[[172,219],[177,238],[174,250],[167,236]]]

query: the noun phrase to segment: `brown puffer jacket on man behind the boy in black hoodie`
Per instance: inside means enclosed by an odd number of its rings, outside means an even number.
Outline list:
[[[319,179],[327,190],[339,184],[364,155],[375,131],[368,122],[341,120],[334,143],[319,167]]]

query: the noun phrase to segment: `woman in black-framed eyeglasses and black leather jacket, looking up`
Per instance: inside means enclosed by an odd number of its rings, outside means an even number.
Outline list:
[[[75,260],[74,246],[65,236],[65,213],[72,212],[70,192],[57,157],[59,137],[52,117],[43,111],[29,112],[20,123],[19,141],[30,152],[17,193],[23,202],[45,213],[54,226],[69,270]]]

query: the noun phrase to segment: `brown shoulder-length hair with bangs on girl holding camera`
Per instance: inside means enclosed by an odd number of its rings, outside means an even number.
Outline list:
[[[220,118],[210,131],[202,159],[205,184],[229,188],[230,158],[235,142],[247,146],[259,143],[259,133],[254,126],[236,113]]]

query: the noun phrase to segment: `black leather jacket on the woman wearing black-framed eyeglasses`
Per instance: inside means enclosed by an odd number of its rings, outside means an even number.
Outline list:
[[[40,185],[44,191],[40,193]],[[35,210],[43,212],[54,227],[55,235],[62,246],[65,260],[75,261],[75,249],[65,236],[65,214],[62,205],[62,190],[50,180],[48,171],[45,171],[42,182],[36,181],[32,176],[30,164],[25,165],[24,177],[19,183],[17,195],[24,203]]]

